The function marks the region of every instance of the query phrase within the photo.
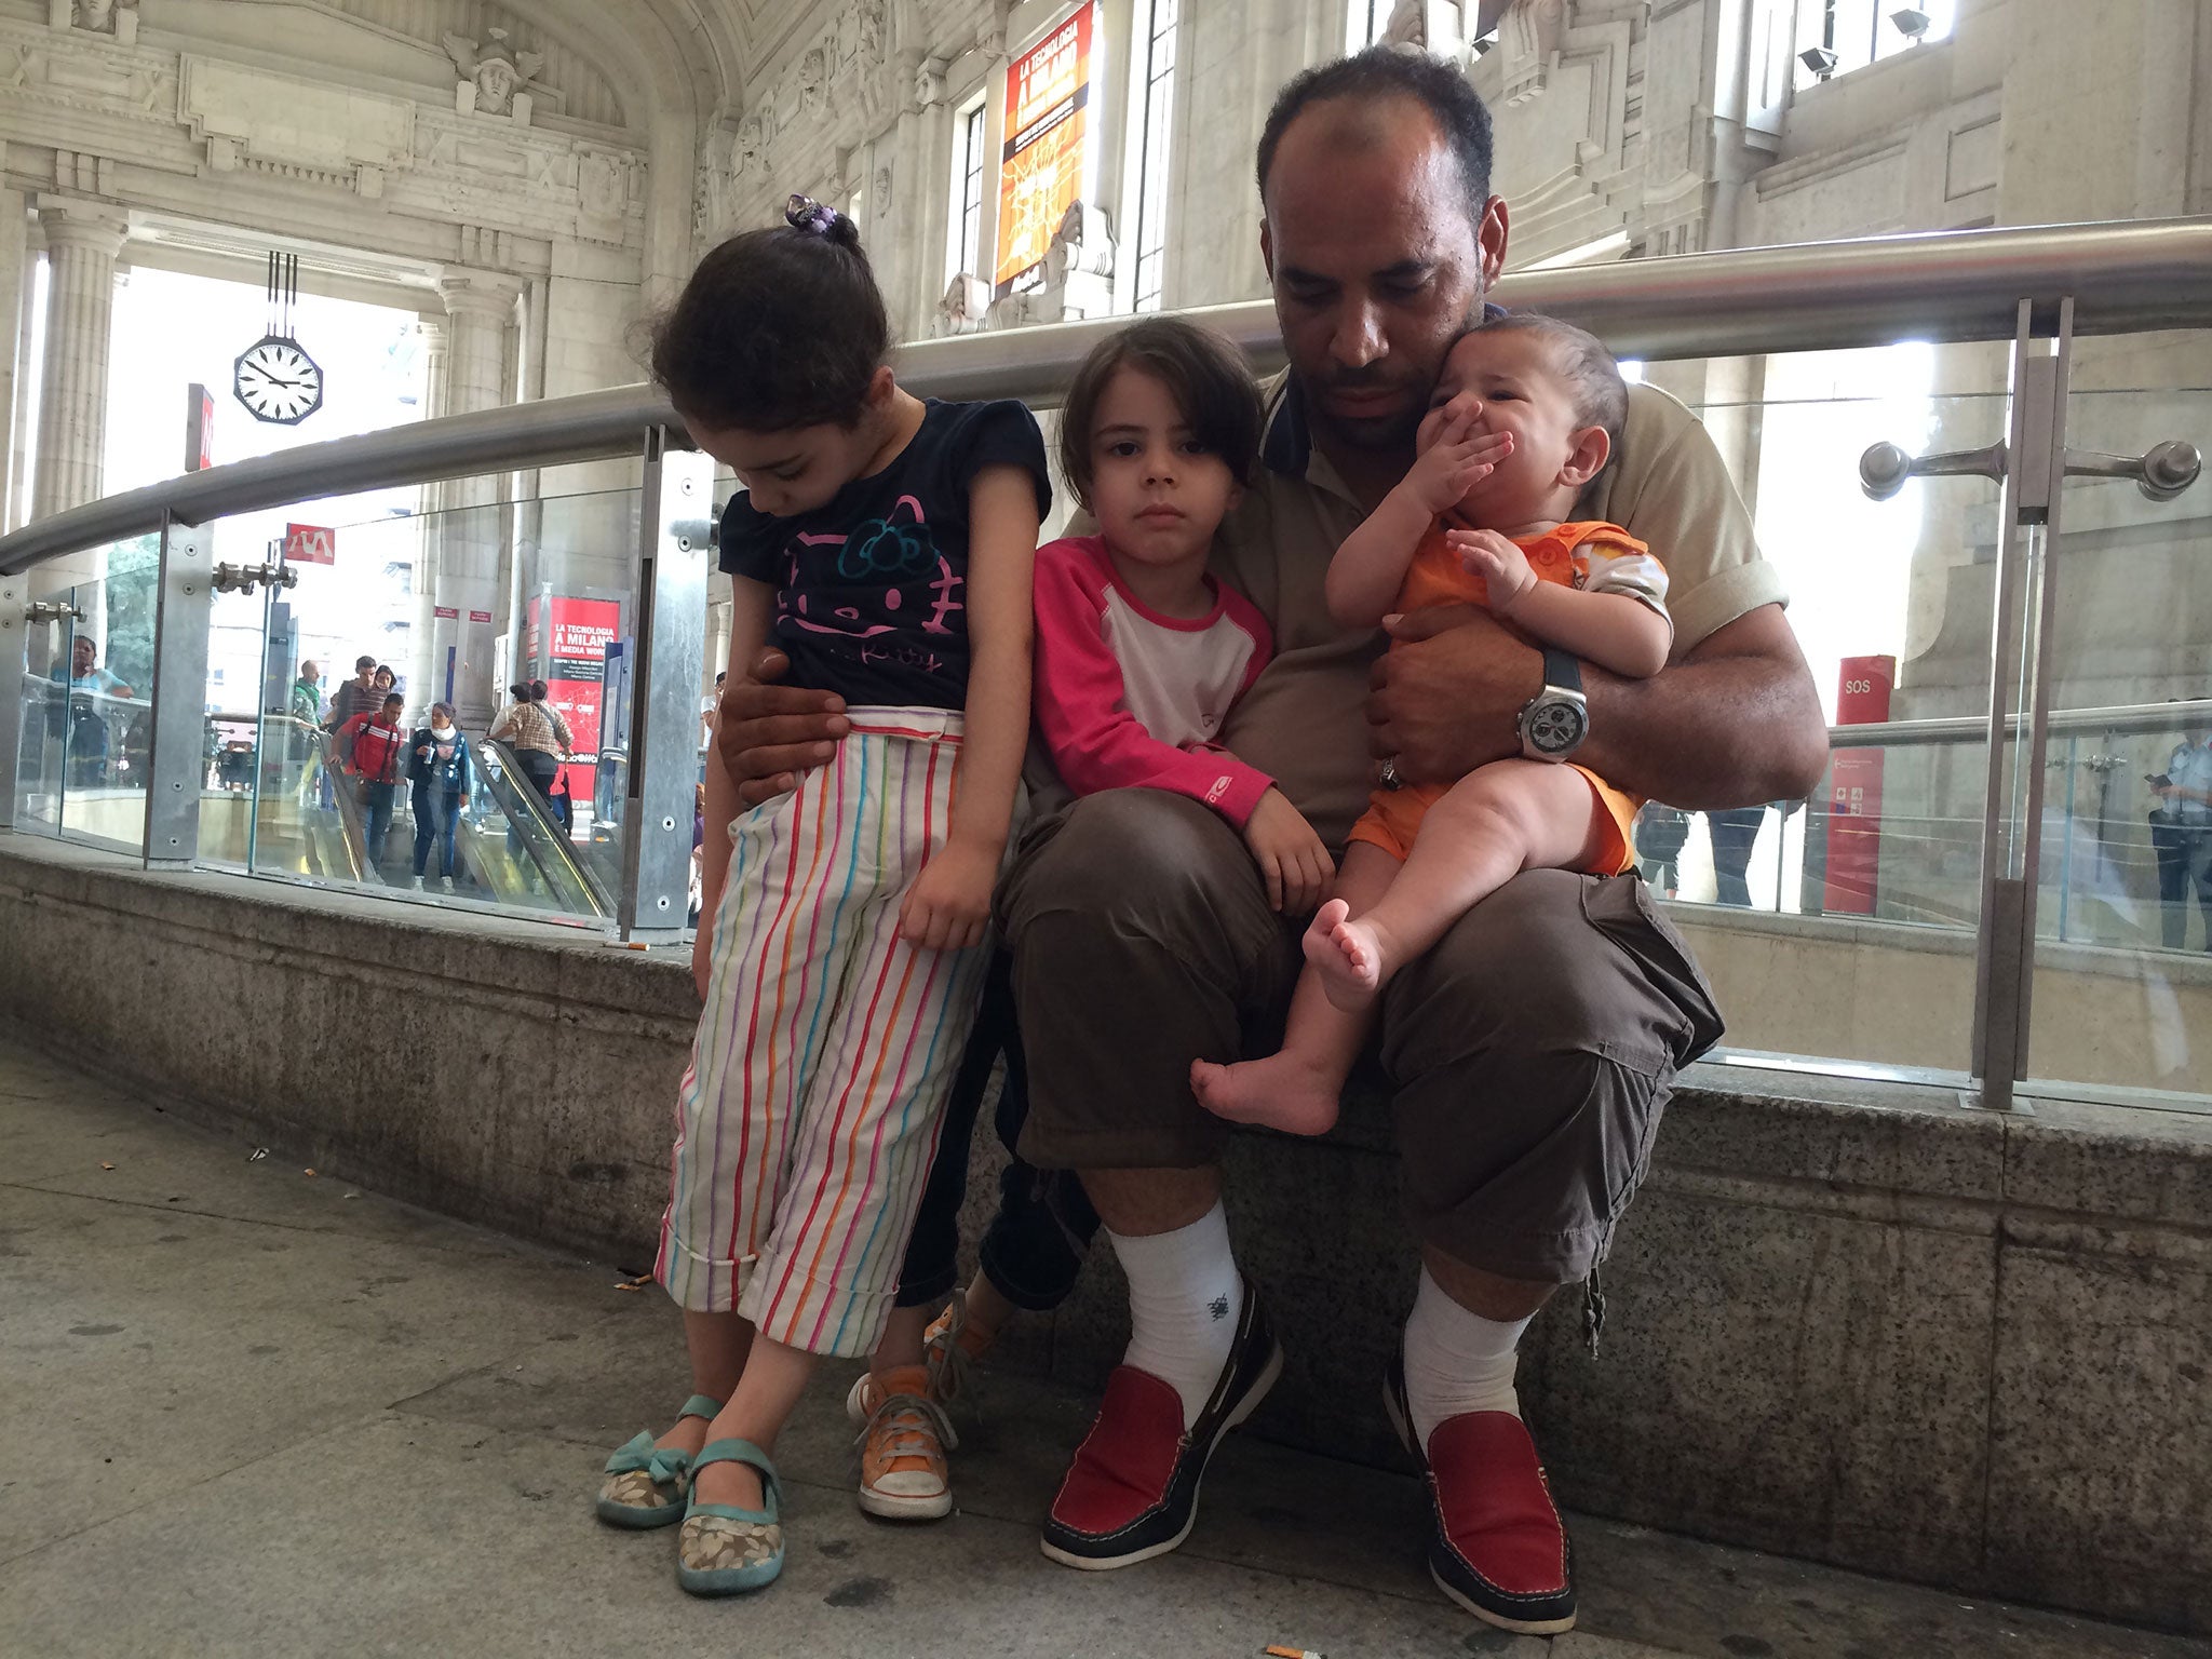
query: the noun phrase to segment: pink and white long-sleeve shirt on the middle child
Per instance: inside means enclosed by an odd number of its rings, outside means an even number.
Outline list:
[[[1241,830],[1274,783],[1217,741],[1274,644],[1250,599],[1208,584],[1212,611],[1164,617],[1102,538],[1037,549],[1037,734],[1075,794],[1172,790]]]

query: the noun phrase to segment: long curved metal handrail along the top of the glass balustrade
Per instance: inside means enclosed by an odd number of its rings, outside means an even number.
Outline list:
[[[1741,248],[1528,270],[1495,288],[1502,305],[1573,319],[1639,358],[2011,338],[2022,299],[2062,296],[2073,296],[2084,334],[2212,325],[2212,217]],[[1225,332],[1263,369],[1283,358],[1267,301],[1188,316]],[[940,398],[1051,403],[1126,321],[916,341],[900,347],[898,374]],[[288,449],[53,513],[0,538],[0,575],[146,535],[164,513],[204,524],[321,495],[626,456],[650,427],[681,429],[655,387],[628,385]]]

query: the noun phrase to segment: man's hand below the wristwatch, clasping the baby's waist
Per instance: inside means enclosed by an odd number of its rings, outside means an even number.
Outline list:
[[[1520,712],[1544,655],[1478,604],[1385,617],[1396,650],[1369,675],[1367,748],[1405,783],[1458,783],[1520,754]]]

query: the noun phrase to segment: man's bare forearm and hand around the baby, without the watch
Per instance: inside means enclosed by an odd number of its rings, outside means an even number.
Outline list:
[[[1544,659],[1480,606],[1389,624],[1407,641],[1376,661],[1369,743],[1409,783],[1451,783],[1520,754],[1520,710]],[[1763,604],[1705,635],[1650,679],[1584,668],[1590,737],[1575,761],[1608,783],[1710,812],[1801,801],[1827,772],[1827,723],[1796,635]]]

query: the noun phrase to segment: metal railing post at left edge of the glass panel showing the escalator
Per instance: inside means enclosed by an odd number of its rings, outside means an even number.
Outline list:
[[[215,615],[212,524],[161,522],[153,619],[153,752],[146,763],[146,869],[199,858],[206,772],[208,626]]]

